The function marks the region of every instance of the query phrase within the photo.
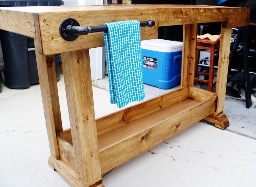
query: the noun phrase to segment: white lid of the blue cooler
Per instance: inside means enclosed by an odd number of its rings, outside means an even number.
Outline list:
[[[152,51],[171,53],[182,51],[182,42],[164,39],[143,40],[141,41],[141,48]]]

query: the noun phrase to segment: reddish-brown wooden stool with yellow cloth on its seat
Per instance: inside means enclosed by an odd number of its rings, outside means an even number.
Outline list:
[[[213,82],[213,77],[217,77],[217,74],[213,73],[213,70],[214,70],[214,55],[219,52],[219,50],[215,50],[216,48],[219,48],[219,45],[218,45],[219,43],[220,43],[220,41],[211,41],[211,40],[197,39],[196,62],[198,62],[198,59],[199,59],[199,51],[200,51],[200,49],[210,50],[210,66],[209,66],[209,73],[201,72],[201,71],[197,70],[198,63],[196,63],[195,64],[195,66],[196,66],[196,68],[195,68],[195,76],[197,74],[207,75],[207,76],[209,76],[209,79],[208,80],[204,80],[204,79],[196,78],[195,77],[195,81],[208,83],[208,91],[210,91],[210,92],[212,92],[212,86],[214,84],[216,84],[216,81]]]

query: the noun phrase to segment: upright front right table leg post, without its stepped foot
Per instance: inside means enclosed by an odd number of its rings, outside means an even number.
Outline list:
[[[217,109],[216,109],[215,115],[222,113],[224,109],[227,77],[228,77],[231,32],[232,32],[231,28],[221,29],[218,75],[217,75],[217,82],[216,82],[216,94],[218,94],[218,102],[217,102]]]

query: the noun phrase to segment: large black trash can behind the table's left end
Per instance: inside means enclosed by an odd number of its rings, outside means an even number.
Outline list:
[[[19,1],[0,0],[0,7],[24,6],[56,6],[63,5],[63,1]],[[25,89],[38,84],[36,53],[34,39],[8,31],[0,30],[1,47],[4,61],[4,84],[8,88]],[[59,55],[54,55],[56,78],[59,80]]]

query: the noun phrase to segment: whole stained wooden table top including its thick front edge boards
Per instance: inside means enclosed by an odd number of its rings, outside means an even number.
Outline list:
[[[158,37],[158,26],[222,22],[224,28],[247,26],[249,8],[207,5],[98,5],[0,7],[0,29],[36,38],[40,53],[51,55],[104,46],[103,33],[79,36],[65,41],[59,33],[61,22],[74,18],[80,26],[97,26],[122,20],[155,21],[141,28],[141,40]],[[92,42],[93,41],[93,42]]]

